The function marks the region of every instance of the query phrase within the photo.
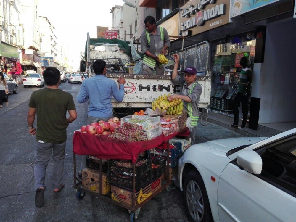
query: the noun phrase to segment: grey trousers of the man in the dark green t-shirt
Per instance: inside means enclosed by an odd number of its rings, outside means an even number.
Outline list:
[[[61,144],[36,142],[36,161],[34,167],[35,190],[43,186],[45,188],[45,174],[49,158],[52,154],[54,166],[52,170],[52,188],[59,188],[64,173],[64,159],[66,142]]]

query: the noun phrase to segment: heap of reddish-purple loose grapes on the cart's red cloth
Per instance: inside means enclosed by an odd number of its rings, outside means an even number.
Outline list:
[[[123,123],[120,128],[115,130],[108,137],[113,139],[126,140],[130,142],[147,141],[148,138],[144,131],[135,123]]]

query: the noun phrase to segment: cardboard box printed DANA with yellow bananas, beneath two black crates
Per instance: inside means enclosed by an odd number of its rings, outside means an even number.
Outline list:
[[[161,178],[153,181],[148,186],[137,190],[134,192],[136,205],[145,201],[148,197],[150,197],[153,193],[155,193],[161,187]],[[111,198],[114,201],[124,203],[126,205],[132,206],[132,192],[128,190],[121,189],[117,186],[111,186]]]

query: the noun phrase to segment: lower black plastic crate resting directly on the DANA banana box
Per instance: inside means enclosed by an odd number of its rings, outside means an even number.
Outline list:
[[[120,174],[120,173],[110,172],[108,174],[108,178],[109,178],[110,184],[113,186],[117,186],[129,191],[133,190],[133,178],[130,176]],[[151,171],[149,171],[148,173],[146,173],[141,177],[137,176],[135,189],[139,190],[147,186],[149,183],[151,183],[151,178],[152,178]]]

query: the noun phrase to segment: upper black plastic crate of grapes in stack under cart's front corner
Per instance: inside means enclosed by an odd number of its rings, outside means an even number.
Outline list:
[[[152,160],[148,158],[144,158],[143,160],[147,160],[144,164],[140,166],[136,166],[136,176],[143,176],[147,172],[151,172],[151,165],[152,165]],[[130,164],[131,167],[123,167],[122,165]],[[113,172],[113,173],[119,173],[123,174],[126,176],[133,176],[133,165],[131,160],[109,160],[108,161],[108,173]]]

